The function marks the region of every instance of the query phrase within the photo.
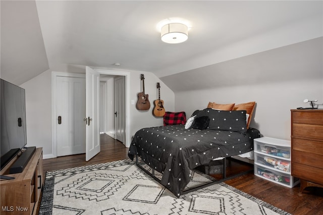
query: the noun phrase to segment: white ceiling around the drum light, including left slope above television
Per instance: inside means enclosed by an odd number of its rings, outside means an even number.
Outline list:
[[[1,76],[21,84],[48,67],[120,63],[166,77],[320,37],[322,8],[322,1],[1,1]],[[172,17],[190,22],[187,41],[161,42],[156,25]]]

